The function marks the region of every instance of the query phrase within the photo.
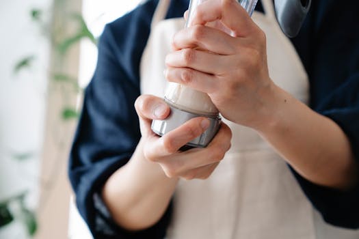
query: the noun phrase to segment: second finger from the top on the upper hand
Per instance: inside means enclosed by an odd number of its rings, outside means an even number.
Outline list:
[[[234,54],[237,44],[237,39],[224,31],[204,25],[195,25],[178,31],[172,42],[174,50],[199,47],[219,55]]]

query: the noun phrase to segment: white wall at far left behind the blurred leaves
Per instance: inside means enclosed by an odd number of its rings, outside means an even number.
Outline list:
[[[0,8],[0,201],[31,191],[29,203],[36,206],[38,171],[42,154],[46,76],[49,44],[31,21],[32,8],[51,9],[51,0],[2,1]],[[16,62],[36,55],[34,65],[14,74]],[[18,162],[14,153],[33,152]],[[19,225],[0,229],[0,238],[25,238]],[[12,234],[10,231],[15,231]]]

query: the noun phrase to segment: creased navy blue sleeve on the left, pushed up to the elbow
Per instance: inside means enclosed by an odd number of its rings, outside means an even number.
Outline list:
[[[126,231],[101,199],[107,179],[131,158],[141,137],[134,102],[140,94],[139,61],[157,1],[147,1],[105,27],[98,61],[85,89],[83,110],[70,152],[69,178],[77,207],[94,238],[163,238],[171,207],[143,231]]]

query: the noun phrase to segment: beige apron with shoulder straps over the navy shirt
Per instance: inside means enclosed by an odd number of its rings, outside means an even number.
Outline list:
[[[170,0],[161,0],[142,56],[141,91],[163,97],[165,55],[183,18],[163,20]],[[271,0],[254,22],[267,36],[269,74],[298,100],[308,102],[308,76],[295,48],[284,36]],[[287,164],[254,130],[224,120],[233,132],[232,148],[208,180],[181,180],[174,194],[169,239],[338,239],[359,238],[354,231],[323,223]]]

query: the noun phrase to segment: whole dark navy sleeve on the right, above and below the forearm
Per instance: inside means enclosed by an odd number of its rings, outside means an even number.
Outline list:
[[[347,8],[341,4],[314,1],[304,30],[293,43],[310,77],[310,106],[341,127],[359,160],[359,2],[346,1]],[[359,184],[336,191],[293,173],[325,221],[359,228]]]

